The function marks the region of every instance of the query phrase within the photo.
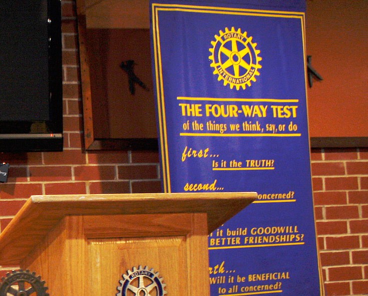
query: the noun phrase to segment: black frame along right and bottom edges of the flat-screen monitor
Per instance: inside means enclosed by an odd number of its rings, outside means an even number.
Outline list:
[[[47,0],[47,5],[49,119],[0,120],[0,152],[63,150],[61,2]]]

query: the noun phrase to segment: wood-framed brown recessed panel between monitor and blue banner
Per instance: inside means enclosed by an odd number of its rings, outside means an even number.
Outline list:
[[[158,149],[148,8],[147,0],[77,1],[87,150]],[[120,67],[128,60],[147,86],[134,84],[134,94]]]

